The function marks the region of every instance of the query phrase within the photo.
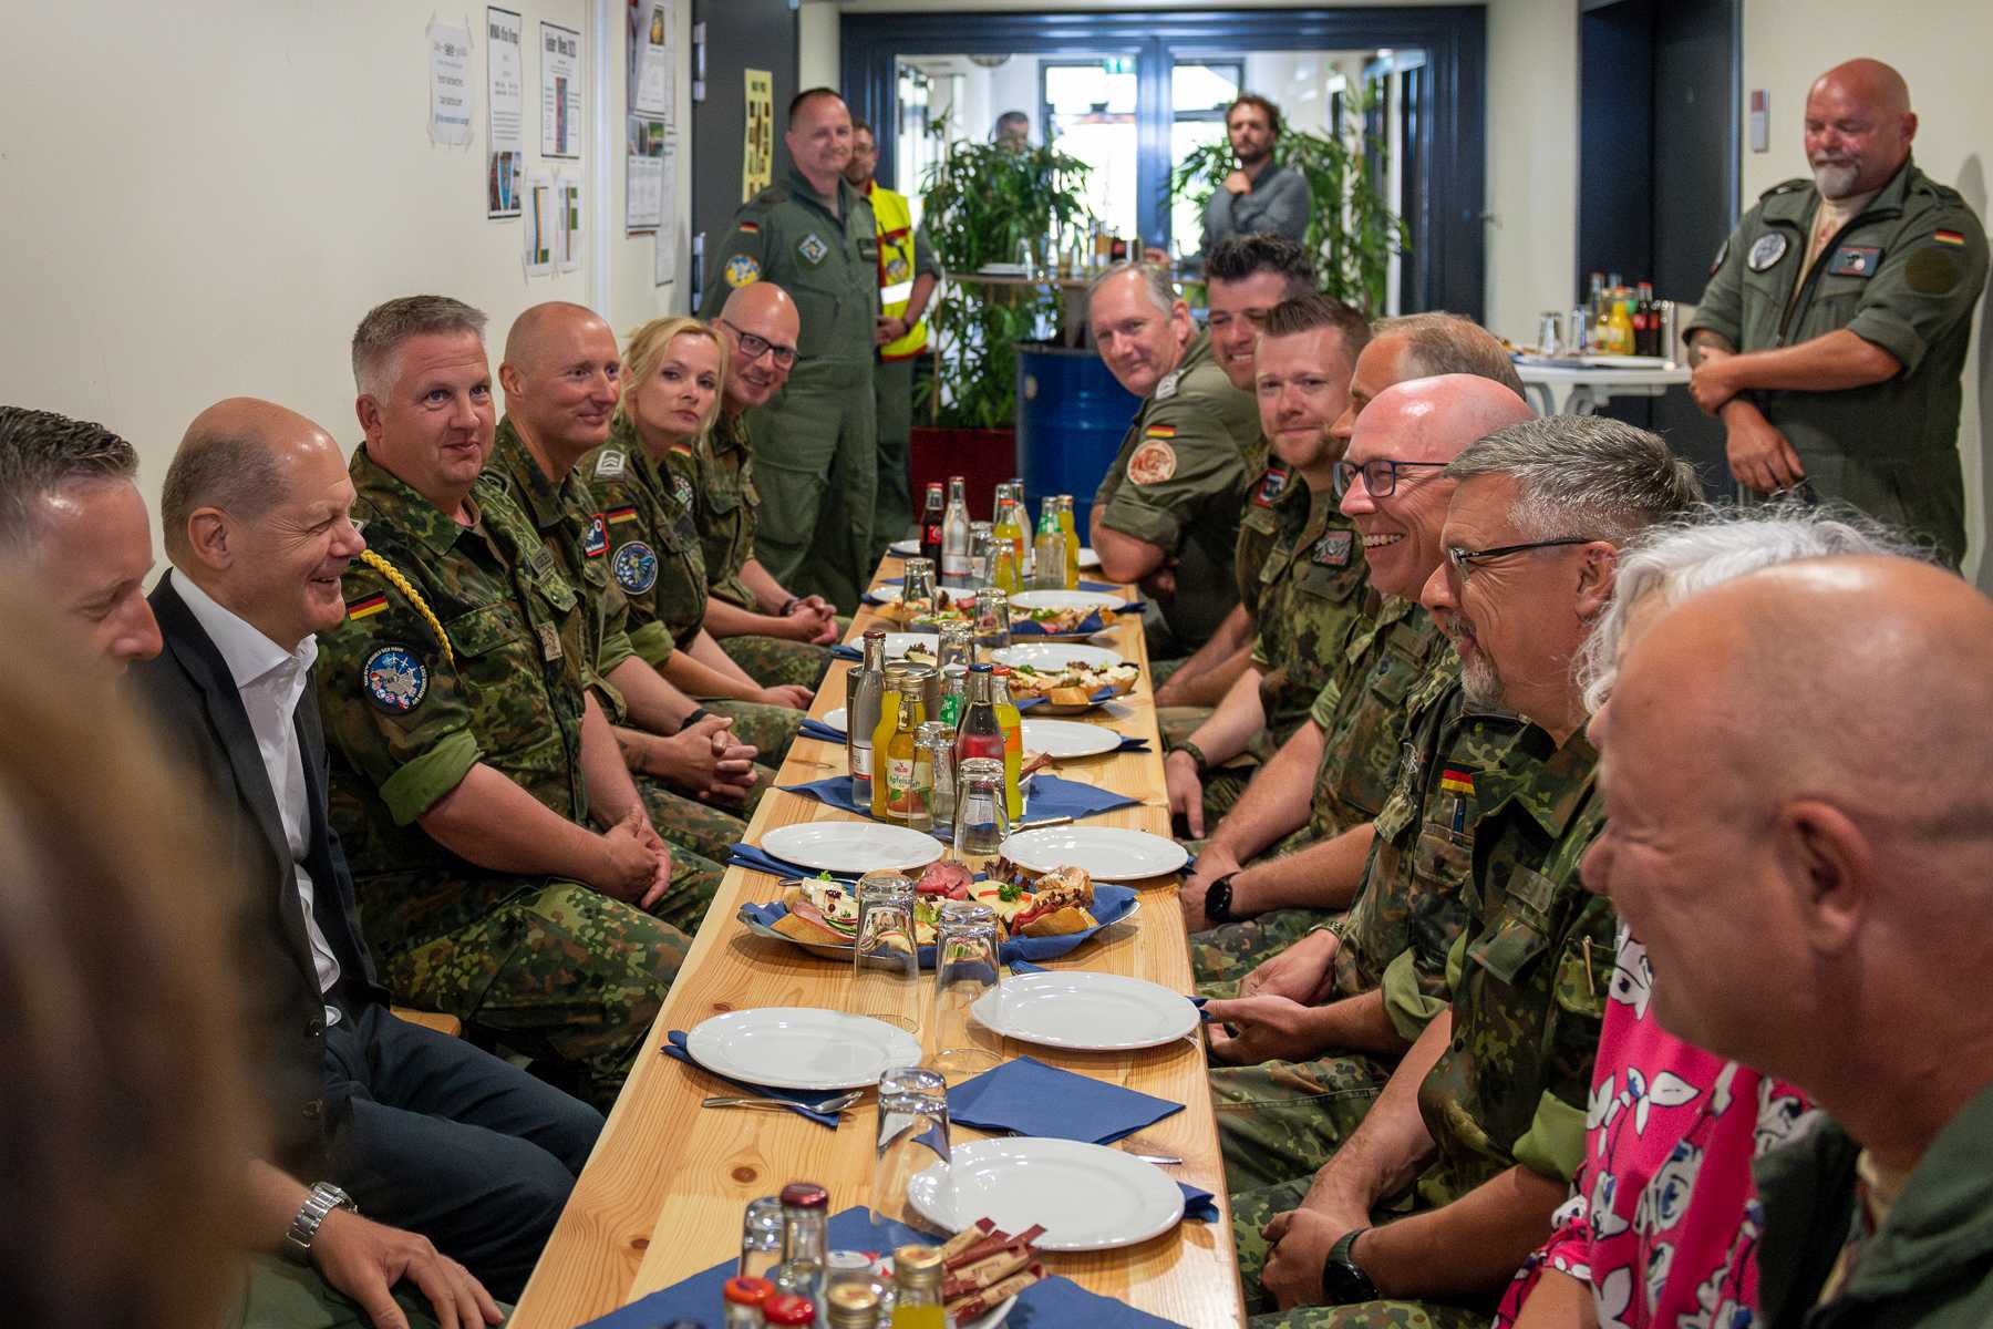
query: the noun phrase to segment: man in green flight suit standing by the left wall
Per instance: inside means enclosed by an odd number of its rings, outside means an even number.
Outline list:
[[[879,434],[873,333],[879,235],[871,203],[845,181],[851,112],[829,88],[789,102],[789,177],[741,205],[700,311],[713,321],[731,291],[773,281],[801,315],[795,371],[753,422],[765,508],[757,550],[789,586],[857,604],[871,584]],[[763,675],[755,675],[763,677]]]

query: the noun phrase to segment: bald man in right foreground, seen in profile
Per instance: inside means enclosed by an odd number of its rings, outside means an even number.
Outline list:
[[[1955,576],[1822,558],[1662,612],[1612,687],[1588,883],[1670,1032],[1830,1116],[1756,1168],[1772,1329],[1993,1321],[1989,658]]]

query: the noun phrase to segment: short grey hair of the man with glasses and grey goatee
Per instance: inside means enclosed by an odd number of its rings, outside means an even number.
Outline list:
[[[1515,476],[1509,518],[1529,540],[1620,544],[1702,502],[1696,468],[1660,434],[1598,414],[1551,414],[1497,428],[1447,466],[1453,480]]]

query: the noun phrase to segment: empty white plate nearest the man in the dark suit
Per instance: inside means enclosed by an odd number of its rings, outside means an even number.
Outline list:
[[[921,1040],[907,1030],[815,1006],[717,1014],[686,1034],[686,1052],[713,1074],[773,1090],[855,1090],[921,1064]]]

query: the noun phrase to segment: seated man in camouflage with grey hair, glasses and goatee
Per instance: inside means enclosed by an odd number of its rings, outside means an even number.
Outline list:
[[[1604,811],[1572,660],[1618,546],[1700,488],[1660,436],[1602,416],[1497,430],[1447,476],[1445,562],[1423,602],[1461,654],[1467,701],[1529,715],[1555,751],[1471,781],[1475,919],[1447,956],[1451,1006],[1313,1178],[1236,1199],[1248,1307],[1281,1307],[1256,1325],[1479,1329],[1584,1150],[1618,921],[1578,885]],[[1393,1201],[1413,1213],[1371,1225]]]

